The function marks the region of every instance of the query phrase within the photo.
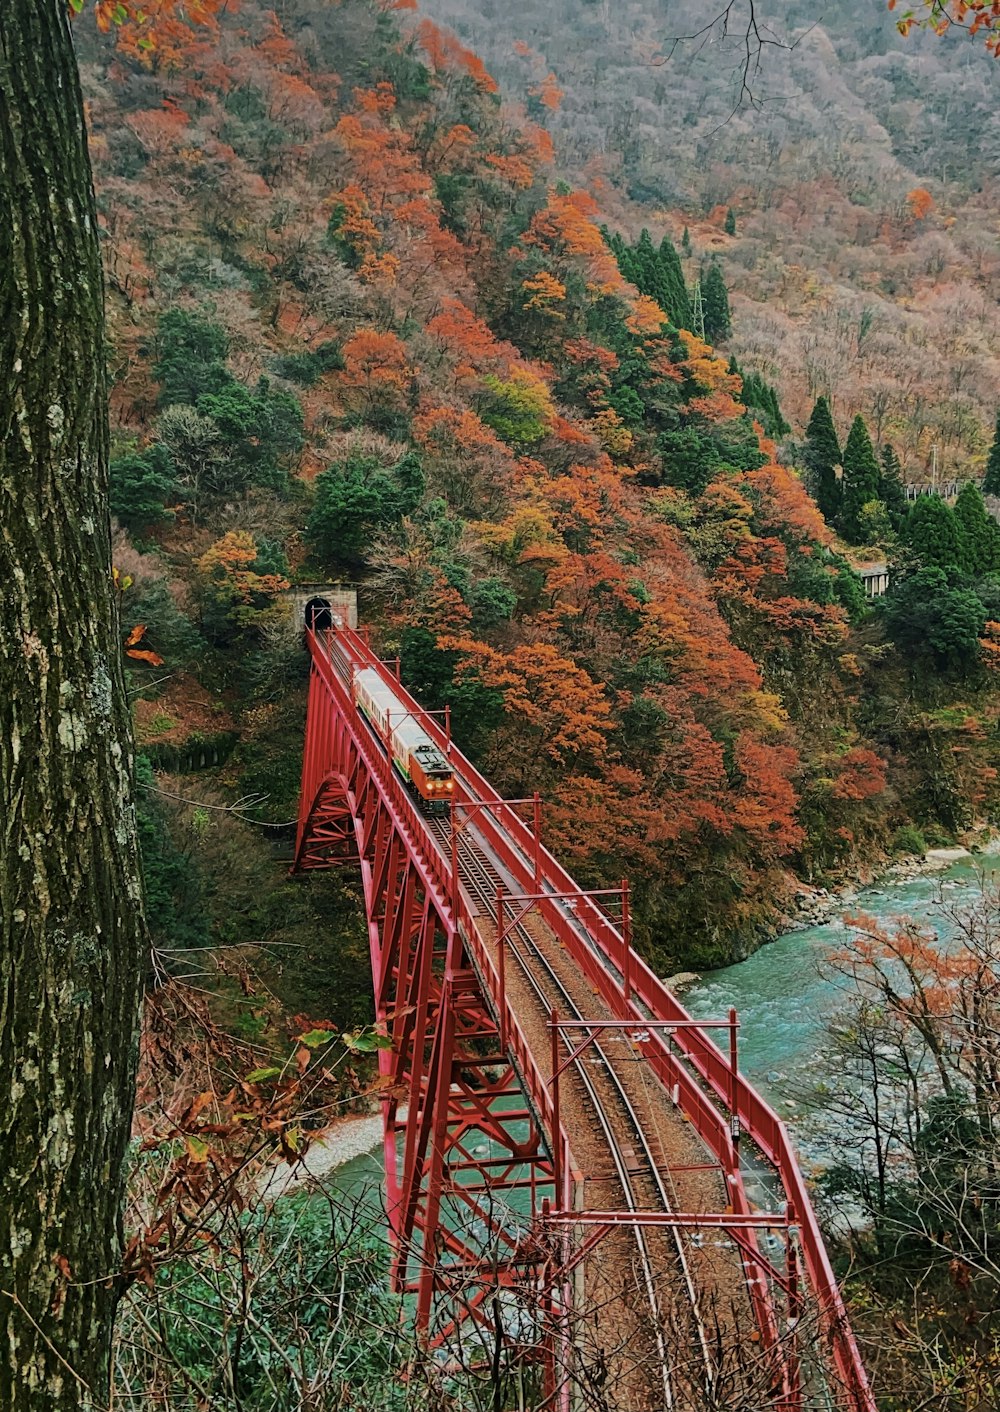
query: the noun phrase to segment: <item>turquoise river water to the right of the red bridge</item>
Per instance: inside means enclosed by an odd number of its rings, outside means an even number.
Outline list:
[[[843,909],[849,915],[864,912],[880,923],[911,916],[946,938],[942,899],[945,907],[973,902],[982,873],[996,880],[999,868],[997,857],[962,858],[942,873],[874,884],[845,902]],[[736,1005],[740,1069],[790,1118],[794,1104],[787,1099],[787,1084],[822,1060],[825,1027],[839,1000],[842,981],[823,974],[821,963],[847,936],[842,918],[787,932],[749,960],[706,973],[682,997],[698,1019],[725,1018]]]

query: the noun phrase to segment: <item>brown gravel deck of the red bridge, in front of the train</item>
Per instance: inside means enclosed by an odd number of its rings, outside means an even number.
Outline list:
[[[468,788],[469,782],[462,781]],[[442,856],[448,826],[428,820]],[[476,928],[496,949],[497,884],[514,892],[513,878],[490,858],[486,842],[462,840],[462,887],[477,905]],[[614,1021],[559,939],[537,914],[528,914],[506,939],[513,962],[507,994],[535,1062],[552,1075],[549,1015]],[[582,1039],[568,1031],[561,1063]],[[726,1175],[651,1073],[627,1031],[609,1031],[561,1076],[562,1117],[579,1173],[585,1211],[725,1211]],[[582,1267],[579,1336],[600,1347],[609,1381],[621,1406],[636,1412],[675,1406],[701,1409],[722,1377],[739,1378],[747,1394],[773,1368],[746,1358],[739,1332],[753,1323],[739,1248],[723,1233],[648,1228],[609,1233]],[[719,1337],[722,1336],[722,1337]],[[743,1348],[743,1354],[739,1351]],[[761,1405],[767,1405],[766,1395]]]

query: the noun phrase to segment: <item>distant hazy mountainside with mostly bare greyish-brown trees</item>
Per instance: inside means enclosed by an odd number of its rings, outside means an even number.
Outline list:
[[[801,429],[816,395],[862,412],[912,479],[977,470],[1000,383],[994,61],[903,38],[880,0],[428,0],[559,161],[633,234],[720,261],[732,350],[777,378]],[[688,37],[675,44],[677,37]],[[734,230],[723,226],[734,213]],[[935,452],[936,448],[936,452]]]

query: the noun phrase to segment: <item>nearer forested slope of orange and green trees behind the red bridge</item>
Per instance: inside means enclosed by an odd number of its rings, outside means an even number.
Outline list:
[[[797,877],[994,809],[994,539],[973,555],[935,501],[944,530],[934,508],[901,537],[907,592],[866,611],[766,435],[784,429],[774,388],[682,326],[669,241],[610,234],[634,234],[623,198],[579,143],[564,157],[545,82],[525,112],[448,31],[367,0],[249,0],[218,28],[171,21],[154,51],[134,35],[82,24],[79,47],[144,778],[236,743],[147,795],[161,943],[292,939],[290,1004],[326,943],[346,884],[284,884],[247,822],[295,812],[294,579],[360,583],[380,647],[428,706],[451,702],[462,748],[501,791],[542,792],[581,882],[631,878],[662,970],[754,945]],[[888,141],[886,161],[903,161]],[[785,196],[757,215],[730,199],[763,247]],[[908,220],[879,225],[900,258],[924,239]],[[749,343],[747,301],[736,323]],[[350,904],[338,945],[363,962]],[[345,977],[340,1014],[366,1004]]]

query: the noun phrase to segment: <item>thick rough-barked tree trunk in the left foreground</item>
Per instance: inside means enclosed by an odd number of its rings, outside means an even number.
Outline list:
[[[68,0],[0,0],[0,1406],[107,1405],[145,932]]]

